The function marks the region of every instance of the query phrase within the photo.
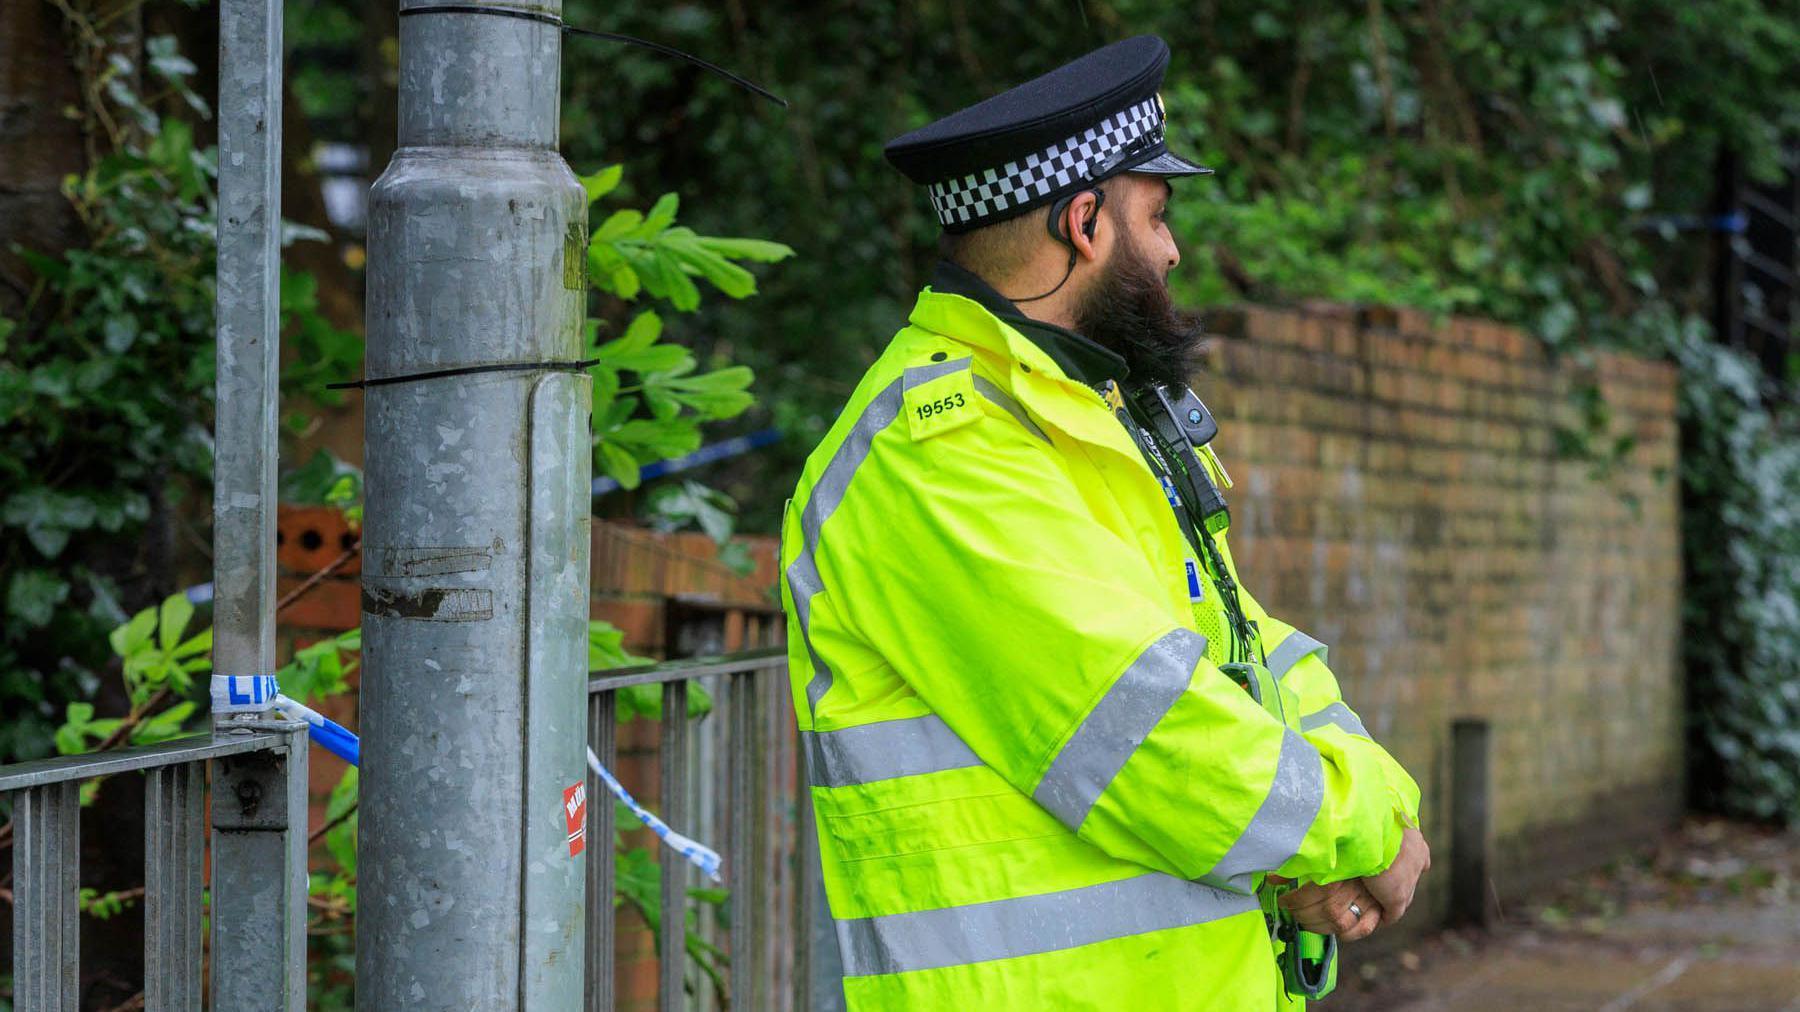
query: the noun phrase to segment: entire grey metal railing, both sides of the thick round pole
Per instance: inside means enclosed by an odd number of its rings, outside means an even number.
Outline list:
[[[752,636],[760,637],[760,636]],[[589,682],[589,744],[608,769],[619,762],[617,691],[661,686],[659,814],[707,843],[724,843],[729,920],[700,917],[695,931],[727,956],[724,994],[693,974],[688,911],[698,886],[686,859],[657,845],[661,866],[661,1008],[824,1008],[835,992],[835,953],[821,951],[812,809],[790,715],[787,655],[767,646],[724,657],[603,672]],[[689,720],[693,686],[713,713]],[[88,780],[144,773],[144,1007],[202,1007],[202,873],[211,780],[211,1001],[250,1008],[304,994],[306,731],[304,724],[194,735],[79,756],[0,765],[13,805],[13,1003],[81,1007],[81,792]],[[211,774],[211,776],[209,776]],[[616,1007],[612,908],[616,814],[599,794],[587,807],[587,1008]],[[632,828],[632,827],[623,827]],[[288,899],[295,924],[268,913]],[[675,958],[668,958],[675,954]],[[277,963],[272,974],[270,963]],[[279,976],[279,990],[245,981]],[[688,989],[693,983],[693,994]],[[257,985],[261,987],[261,985]]]

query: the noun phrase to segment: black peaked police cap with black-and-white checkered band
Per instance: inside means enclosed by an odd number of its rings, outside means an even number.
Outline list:
[[[1120,173],[1211,173],[1163,142],[1168,43],[1136,36],[887,142],[945,232],[1017,218]]]

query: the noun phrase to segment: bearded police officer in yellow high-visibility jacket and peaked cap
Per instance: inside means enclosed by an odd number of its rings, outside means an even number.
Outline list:
[[[887,146],[945,261],[783,524],[851,1008],[1276,1008],[1429,864],[1325,645],[1238,585],[1150,36]]]

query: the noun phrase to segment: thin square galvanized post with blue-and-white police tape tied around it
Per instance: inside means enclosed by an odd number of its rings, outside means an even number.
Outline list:
[[[281,58],[281,0],[221,0],[212,439],[212,670],[220,675],[275,670]],[[214,735],[270,727],[261,717],[214,717]],[[214,773],[212,1007],[299,1012],[306,1007],[306,735],[290,733],[284,754],[221,760]]]

